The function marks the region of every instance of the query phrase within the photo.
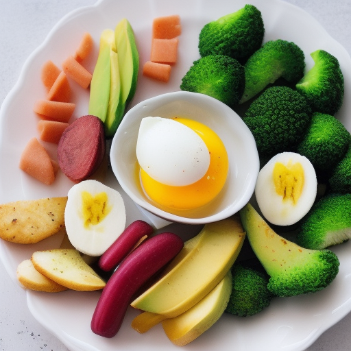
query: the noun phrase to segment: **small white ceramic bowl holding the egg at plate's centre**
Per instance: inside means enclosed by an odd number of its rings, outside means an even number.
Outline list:
[[[229,158],[228,178],[210,204],[173,214],[154,206],[143,193],[136,172],[136,140],[141,119],[156,116],[199,121],[223,141]],[[131,108],[114,135],[110,160],[119,184],[136,204],[168,221],[187,224],[210,223],[237,213],[250,200],[259,171],[254,137],[239,115],[217,99],[185,91],[158,95]]]

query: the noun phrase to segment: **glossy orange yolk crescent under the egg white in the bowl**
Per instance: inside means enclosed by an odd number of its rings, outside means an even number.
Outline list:
[[[145,193],[159,207],[189,210],[208,204],[219,194],[228,175],[228,155],[219,136],[206,125],[181,117],[175,117],[175,121],[194,130],[206,144],[210,153],[210,165],[206,174],[197,182],[186,186],[162,184],[143,169],[140,169],[140,178]]]

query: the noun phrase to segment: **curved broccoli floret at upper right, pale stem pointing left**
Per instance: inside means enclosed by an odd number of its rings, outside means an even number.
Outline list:
[[[344,82],[339,61],[324,50],[311,53],[314,66],[296,84],[313,111],[335,114],[343,104]]]

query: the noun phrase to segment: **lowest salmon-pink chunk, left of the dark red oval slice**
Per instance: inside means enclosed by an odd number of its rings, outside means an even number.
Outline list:
[[[21,154],[19,168],[40,182],[50,185],[56,178],[58,163],[51,160],[37,138],[29,140]]]

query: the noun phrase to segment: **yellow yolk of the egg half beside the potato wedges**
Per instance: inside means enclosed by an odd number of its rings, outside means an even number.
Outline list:
[[[110,213],[110,208],[108,207],[108,195],[105,192],[95,196],[88,191],[82,192],[82,214],[85,228],[90,225],[96,226],[104,220],[108,213]]]

